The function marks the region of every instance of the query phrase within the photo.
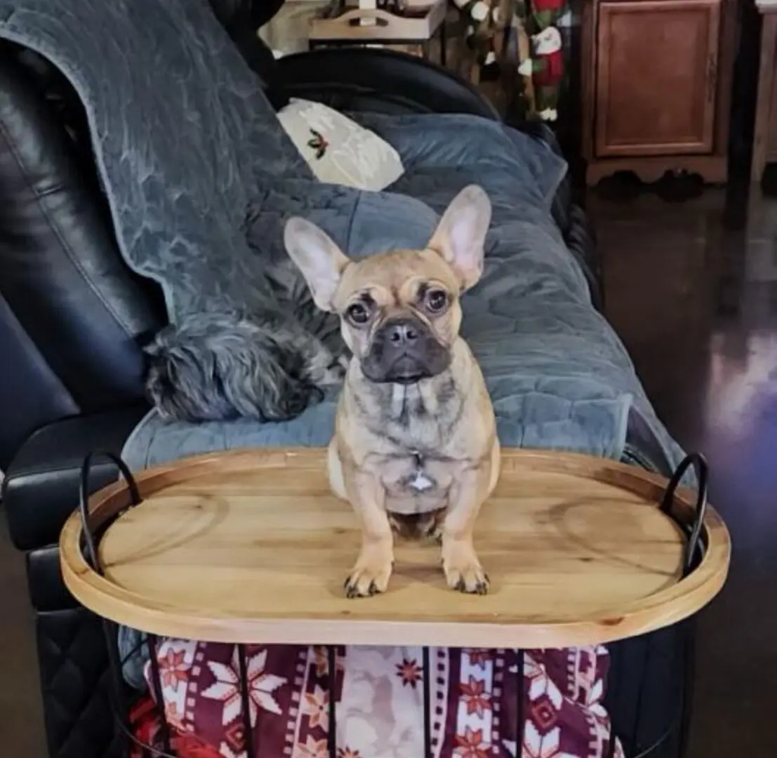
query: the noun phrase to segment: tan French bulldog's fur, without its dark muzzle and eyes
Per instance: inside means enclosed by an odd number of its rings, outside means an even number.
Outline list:
[[[459,296],[479,279],[490,203],[479,187],[451,202],[427,249],[395,250],[352,262],[308,221],[287,224],[286,245],[305,274],[319,307],[342,318],[348,365],[329,444],[329,482],[354,507],[361,554],[346,580],[349,596],[384,592],[392,573],[395,529],[441,539],[448,586],[485,593],[488,577],[472,544],[480,506],[500,470],[493,407],[483,374],[458,335]],[[448,294],[444,314],[423,312],[423,288]],[[373,322],[354,327],[344,318],[358,297],[375,303]],[[387,319],[412,313],[448,350],[441,374],[415,384],[376,383],[361,361]],[[421,478],[418,491],[407,482]]]

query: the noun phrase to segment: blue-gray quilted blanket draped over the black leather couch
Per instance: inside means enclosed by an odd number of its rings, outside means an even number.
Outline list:
[[[550,217],[566,166],[541,142],[473,116],[362,114],[406,166],[392,191],[364,193],[315,182],[207,0],[0,0],[0,37],[37,50],[75,85],[120,249],[162,284],[173,325],[250,318],[267,297],[263,267],[284,255],[289,214],[364,256],[423,245],[437,214],[476,182],[493,227],[464,331],[503,444],[619,457],[638,413],[678,460]],[[164,423],[152,412],[125,452],[144,466],[241,445],[318,445],[332,419],[331,396],[273,423]]]

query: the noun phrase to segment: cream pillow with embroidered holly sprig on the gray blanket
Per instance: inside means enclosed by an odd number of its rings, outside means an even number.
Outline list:
[[[405,170],[399,153],[388,142],[322,103],[291,99],[277,115],[322,182],[385,190]]]

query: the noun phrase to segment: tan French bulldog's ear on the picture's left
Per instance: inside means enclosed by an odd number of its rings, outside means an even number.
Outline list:
[[[333,297],[350,260],[325,231],[297,216],[286,222],[284,245],[305,276],[315,304],[322,311],[333,311]]]

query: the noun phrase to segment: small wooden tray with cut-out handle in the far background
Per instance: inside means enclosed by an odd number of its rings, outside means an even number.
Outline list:
[[[397,16],[383,9],[348,9],[340,16],[313,18],[308,39],[312,42],[353,40],[354,42],[402,42],[430,40],[445,19],[447,0],[434,0],[423,7],[410,6],[413,15]],[[364,20],[373,23],[362,25]]]

